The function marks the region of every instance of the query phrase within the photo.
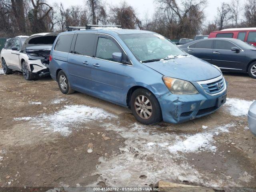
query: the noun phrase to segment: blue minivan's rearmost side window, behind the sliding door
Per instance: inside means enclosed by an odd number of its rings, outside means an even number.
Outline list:
[[[54,50],[69,53],[71,42],[74,34],[66,34],[59,36]]]

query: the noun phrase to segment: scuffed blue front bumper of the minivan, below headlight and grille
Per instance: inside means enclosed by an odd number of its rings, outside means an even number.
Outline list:
[[[192,83],[196,86],[199,94],[175,95],[166,93],[158,98],[164,122],[181,123],[206,116],[218,110],[226,102],[226,81],[224,89],[214,95],[206,93],[197,82]]]

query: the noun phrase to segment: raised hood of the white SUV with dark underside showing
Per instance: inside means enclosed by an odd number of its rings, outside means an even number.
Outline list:
[[[22,45],[21,50],[26,50],[26,47],[31,47],[33,46],[41,46],[41,45],[49,45],[52,46],[54,43],[54,40],[58,36],[58,33],[38,33],[34,34],[26,39],[24,44]]]

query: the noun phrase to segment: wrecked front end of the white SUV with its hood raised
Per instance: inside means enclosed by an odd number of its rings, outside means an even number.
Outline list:
[[[48,76],[49,56],[58,33],[34,34],[26,39],[20,50],[20,66],[26,80]]]

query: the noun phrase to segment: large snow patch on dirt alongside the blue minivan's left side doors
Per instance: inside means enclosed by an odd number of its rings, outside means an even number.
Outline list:
[[[14,120],[26,120],[30,124],[66,136],[71,133],[70,128],[82,123],[104,120],[115,117],[103,109],[84,105],[68,105],[54,114],[41,114],[35,117],[20,117]]]

